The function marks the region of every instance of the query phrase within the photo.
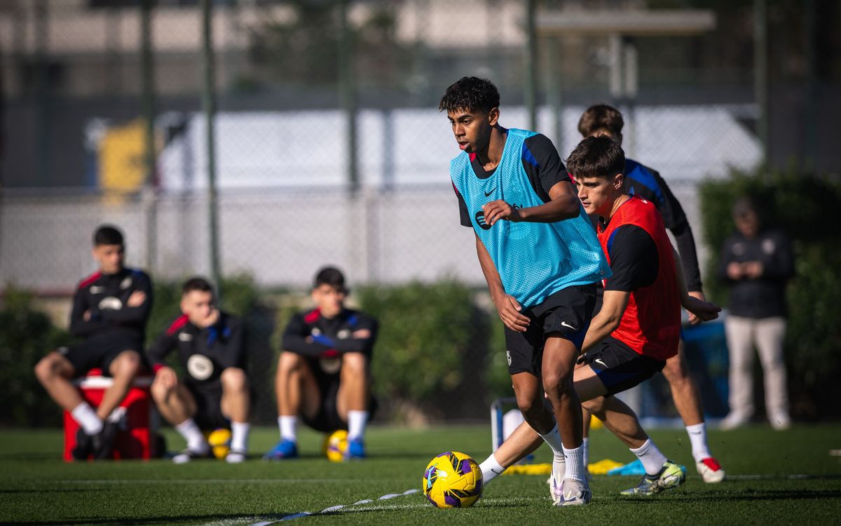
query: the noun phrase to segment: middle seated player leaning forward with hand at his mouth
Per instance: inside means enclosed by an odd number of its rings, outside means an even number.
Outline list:
[[[225,461],[240,463],[246,460],[251,409],[242,321],[216,308],[213,287],[203,278],[183,284],[181,311],[147,351],[155,371],[152,398],[161,416],[187,441],[187,449],[172,460],[183,464],[209,456],[202,430],[230,423]],[[178,349],[183,380],[164,361],[173,348]]]

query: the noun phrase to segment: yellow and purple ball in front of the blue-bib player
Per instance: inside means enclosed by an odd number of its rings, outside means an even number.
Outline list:
[[[436,507],[473,506],[482,495],[482,470],[467,454],[439,454],[423,473],[423,494]]]

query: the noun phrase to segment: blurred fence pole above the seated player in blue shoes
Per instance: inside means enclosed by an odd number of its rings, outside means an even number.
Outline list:
[[[357,162],[357,100],[353,82],[353,38],[347,24],[348,0],[339,0],[339,99],[347,124],[347,182],[353,194],[359,189]]]

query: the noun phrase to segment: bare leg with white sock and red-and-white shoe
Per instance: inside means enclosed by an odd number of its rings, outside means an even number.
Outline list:
[[[683,340],[678,345],[678,353],[666,360],[663,375],[669,380],[674,407],[683,419],[686,433],[692,444],[692,457],[695,459],[698,474],[705,482],[721,482],[724,470],[713,458],[706,442],[706,422],[701,406],[701,394],[686,365]]]

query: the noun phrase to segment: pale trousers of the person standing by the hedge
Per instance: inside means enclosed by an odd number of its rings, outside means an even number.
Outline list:
[[[788,416],[783,340],[785,318],[743,318],[724,320],[730,353],[730,412],[743,417],[754,414],[754,345],[759,351],[768,417]]]

